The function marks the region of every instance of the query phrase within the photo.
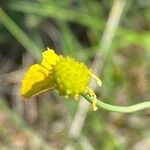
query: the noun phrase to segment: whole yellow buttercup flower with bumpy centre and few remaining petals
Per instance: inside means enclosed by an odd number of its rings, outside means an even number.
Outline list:
[[[21,95],[30,98],[38,93],[57,89],[60,95],[78,99],[81,94],[87,93],[95,98],[93,108],[96,110],[96,96],[88,88],[91,77],[101,85],[101,80],[84,63],[57,55],[48,48],[43,52],[41,64],[34,64],[27,70],[22,80]]]

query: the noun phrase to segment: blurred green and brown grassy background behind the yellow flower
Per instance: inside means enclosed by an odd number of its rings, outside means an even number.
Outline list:
[[[123,9],[111,11],[119,3]],[[109,33],[106,26],[113,28],[117,20],[111,26],[108,18],[117,13],[119,25]],[[77,101],[55,91],[24,101],[20,81],[46,47],[91,68],[100,54],[97,75],[103,86],[96,94],[103,101],[148,101],[150,0],[0,0],[0,149],[150,149],[150,110],[118,114],[90,107],[79,116],[85,120],[74,138],[69,131],[78,115]]]

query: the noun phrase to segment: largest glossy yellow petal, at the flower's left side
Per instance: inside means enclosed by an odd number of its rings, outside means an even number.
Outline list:
[[[42,65],[32,65],[22,80],[21,95],[29,98],[46,89],[54,87],[53,76]]]

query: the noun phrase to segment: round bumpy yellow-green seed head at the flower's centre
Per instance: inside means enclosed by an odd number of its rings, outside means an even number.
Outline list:
[[[78,97],[90,82],[89,69],[70,57],[60,57],[54,65],[56,89],[60,95]]]

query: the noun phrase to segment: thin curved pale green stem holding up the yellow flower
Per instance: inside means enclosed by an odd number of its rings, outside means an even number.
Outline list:
[[[89,95],[85,95],[85,94],[82,96],[90,103],[93,103],[93,97],[90,97]],[[114,111],[118,113],[132,113],[132,112],[140,111],[146,108],[150,108],[150,101],[141,102],[139,104],[135,104],[131,106],[115,106],[115,105],[104,103],[97,99],[96,106],[104,110]]]

